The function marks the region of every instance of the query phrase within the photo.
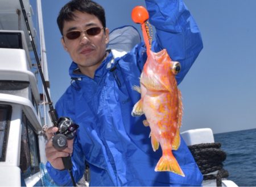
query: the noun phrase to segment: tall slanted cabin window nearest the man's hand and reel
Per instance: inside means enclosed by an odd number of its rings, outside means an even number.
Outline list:
[[[26,115],[23,114],[20,169],[24,178],[39,171],[39,160],[38,136]]]

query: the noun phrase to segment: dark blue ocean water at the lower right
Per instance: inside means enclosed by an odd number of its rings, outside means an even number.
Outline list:
[[[256,128],[214,134],[226,152],[224,169],[238,186],[256,186]]]

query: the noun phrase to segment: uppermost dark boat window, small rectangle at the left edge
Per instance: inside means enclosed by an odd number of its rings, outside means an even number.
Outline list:
[[[0,48],[22,49],[20,32],[0,32]]]

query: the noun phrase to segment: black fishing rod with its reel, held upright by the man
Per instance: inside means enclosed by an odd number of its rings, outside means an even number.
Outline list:
[[[55,147],[58,151],[61,151],[67,147],[67,140],[74,138],[75,132],[79,126],[77,124],[73,123],[72,119],[70,119],[70,118],[67,118],[67,117],[58,118],[57,117],[56,110],[54,109],[51,98],[49,96],[49,92],[47,89],[47,83],[46,83],[46,80],[43,75],[42,67],[40,64],[39,57],[38,57],[38,52],[36,51],[35,41],[31,34],[31,29],[30,29],[30,25],[28,23],[27,13],[24,8],[23,1],[19,0],[19,2],[20,2],[23,16],[24,16],[24,20],[26,23],[26,27],[28,30],[28,35],[29,35],[29,38],[31,41],[32,49],[33,49],[33,52],[35,55],[36,64],[38,65],[38,71],[39,71],[40,77],[42,79],[43,88],[46,93],[46,97],[47,97],[47,101],[48,101],[48,105],[49,105],[48,113],[51,118],[53,126],[58,127],[58,131],[52,138],[52,144],[53,144],[53,147]],[[68,172],[71,176],[73,186],[76,186],[76,182],[75,182],[75,179],[72,174],[73,165],[72,165],[71,157],[70,156],[61,157],[61,159],[63,160],[64,168],[68,170]]]

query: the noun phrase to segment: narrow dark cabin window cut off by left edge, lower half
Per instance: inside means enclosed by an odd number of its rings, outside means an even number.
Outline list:
[[[0,161],[5,161],[11,120],[11,106],[0,105]]]

